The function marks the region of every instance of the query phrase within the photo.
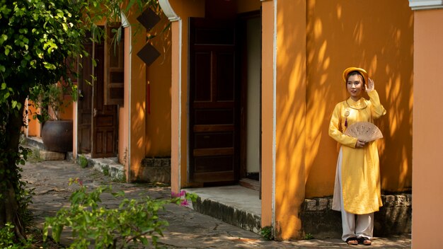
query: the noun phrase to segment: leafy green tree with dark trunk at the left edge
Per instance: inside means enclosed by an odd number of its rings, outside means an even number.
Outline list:
[[[158,6],[156,0],[0,0],[0,229],[12,224],[18,240],[24,239],[18,165],[28,156],[19,147],[25,99],[38,103],[60,81],[75,100],[71,77],[76,59],[88,56],[86,34],[100,39],[96,21],[120,21],[124,2],[125,11]]]

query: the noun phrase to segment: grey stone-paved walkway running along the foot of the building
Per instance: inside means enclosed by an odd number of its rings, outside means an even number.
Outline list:
[[[80,178],[84,185],[113,185],[113,190],[123,190],[126,197],[137,198],[139,194],[154,198],[168,198],[168,187],[153,187],[142,184],[115,183],[92,168],[81,168],[68,161],[28,162],[23,166],[23,180],[28,187],[35,188],[33,204],[35,224],[42,227],[46,216],[54,216],[60,207],[69,205],[69,196],[75,186],[69,186],[69,178]],[[108,207],[116,207],[117,202],[103,196]],[[164,237],[160,240],[163,248],[367,248],[364,245],[345,245],[340,239],[312,239],[309,241],[264,241],[255,233],[231,226],[192,209],[168,205],[161,218],[169,222]],[[69,231],[62,233],[62,244],[72,241]],[[392,238],[374,238],[372,248],[410,248],[410,235]]]

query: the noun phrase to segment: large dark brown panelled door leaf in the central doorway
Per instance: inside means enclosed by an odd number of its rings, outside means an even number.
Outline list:
[[[239,91],[235,22],[190,18],[189,178],[235,182]]]

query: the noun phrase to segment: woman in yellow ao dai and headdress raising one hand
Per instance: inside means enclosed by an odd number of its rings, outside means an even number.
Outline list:
[[[374,141],[359,141],[343,132],[352,123],[373,122],[385,115],[386,110],[374,89],[374,81],[368,78],[364,69],[345,69],[343,79],[350,98],[335,105],[329,125],[330,137],[340,144],[333,210],[342,212],[343,241],[350,245],[370,245],[374,212],[379,211],[382,205],[379,153]],[[369,95],[369,100],[363,98],[364,91]]]

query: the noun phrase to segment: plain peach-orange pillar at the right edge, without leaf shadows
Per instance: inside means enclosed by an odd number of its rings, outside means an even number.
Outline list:
[[[415,11],[413,248],[442,248],[443,9]],[[437,128],[438,129],[438,128]]]

